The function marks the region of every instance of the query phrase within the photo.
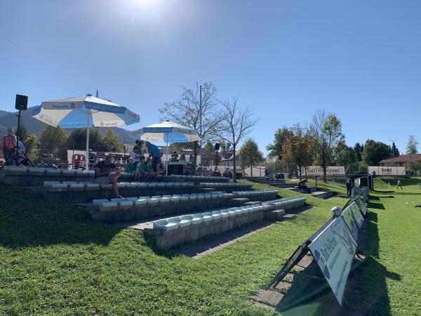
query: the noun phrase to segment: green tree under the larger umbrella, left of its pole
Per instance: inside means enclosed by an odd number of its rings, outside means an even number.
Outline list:
[[[67,158],[66,142],[67,135],[63,129],[50,125],[46,125],[41,129],[41,137],[39,142],[48,154],[53,154],[53,157]]]

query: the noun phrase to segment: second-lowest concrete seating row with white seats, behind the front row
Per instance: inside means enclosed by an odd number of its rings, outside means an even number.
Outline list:
[[[220,209],[238,204],[236,195],[224,192],[192,193],[180,195],[156,195],[145,197],[128,197],[125,199],[94,199],[88,209],[94,219],[108,223],[126,220],[171,215],[175,213],[192,213],[205,209]],[[260,200],[273,199],[276,192],[266,192]],[[248,199],[247,201],[248,202]]]

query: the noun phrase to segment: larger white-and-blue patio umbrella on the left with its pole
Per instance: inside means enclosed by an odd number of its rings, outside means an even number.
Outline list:
[[[86,164],[89,157],[89,128],[112,127],[138,123],[140,117],[126,107],[87,94],[76,98],[46,101],[32,112],[32,117],[64,129],[86,127]]]

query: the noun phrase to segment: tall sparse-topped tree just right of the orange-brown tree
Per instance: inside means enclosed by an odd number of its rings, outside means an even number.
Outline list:
[[[319,109],[313,114],[309,133],[314,140],[316,162],[323,169],[323,180],[326,182],[326,169],[334,160],[336,146],[344,139],[342,123],[335,114]]]

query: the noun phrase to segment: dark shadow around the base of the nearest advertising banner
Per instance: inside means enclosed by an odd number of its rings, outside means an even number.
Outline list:
[[[290,289],[276,306],[282,315],[391,315],[387,279],[400,280],[397,273],[381,265],[380,239],[377,228],[377,213],[371,212],[367,222],[365,242],[366,260],[354,264],[344,294],[342,308],[322,277],[319,266],[313,261],[304,271],[295,274]],[[311,275],[308,277],[306,275]]]

